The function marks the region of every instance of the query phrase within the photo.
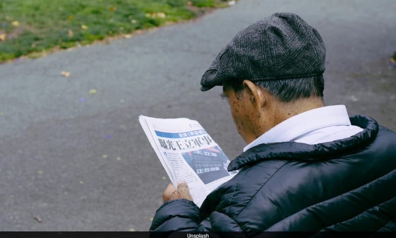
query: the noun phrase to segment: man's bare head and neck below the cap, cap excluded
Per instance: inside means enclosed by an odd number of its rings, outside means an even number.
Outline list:
[[[239,134],[250,143],[287,118],[323,106],[322,75],[277,81],[224,83]]]

